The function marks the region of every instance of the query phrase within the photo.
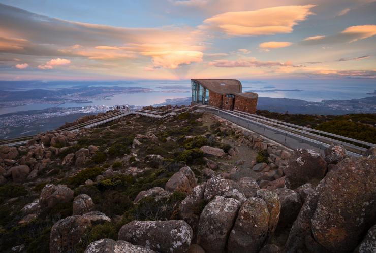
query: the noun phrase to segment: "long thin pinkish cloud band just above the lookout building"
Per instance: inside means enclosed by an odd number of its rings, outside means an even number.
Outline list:
[[[256,58],[244,58],[238,60],[216,60],[209,62],[209,66],[215,67],[301,67],[293,65],[291,61],[259,61]]]

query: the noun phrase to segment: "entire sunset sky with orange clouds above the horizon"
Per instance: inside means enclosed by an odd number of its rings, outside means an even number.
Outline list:
[[[376,1],[0,0],[0,80],[376,78]]]

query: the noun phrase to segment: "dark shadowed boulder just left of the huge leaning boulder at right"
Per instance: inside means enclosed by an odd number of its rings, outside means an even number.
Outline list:
[[[302,207],[302,202],[299,194],[293,190],[278,188],[274,192],[278,194],[280,201],[279,222],[276,229],[280,232],[291,226],[295,221]]]

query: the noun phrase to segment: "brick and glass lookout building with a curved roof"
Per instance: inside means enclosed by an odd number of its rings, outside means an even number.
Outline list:
[[[226,110],[256,113],[258,95],[241,92],[235,79],[191,79],[192,104],[206,104]]]

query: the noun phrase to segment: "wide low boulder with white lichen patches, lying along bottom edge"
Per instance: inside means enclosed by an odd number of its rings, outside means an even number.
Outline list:
[[[192,228],[183,220],[132,221],[120,228],[118,239],[162,253],[183,253],[190,248]]]

